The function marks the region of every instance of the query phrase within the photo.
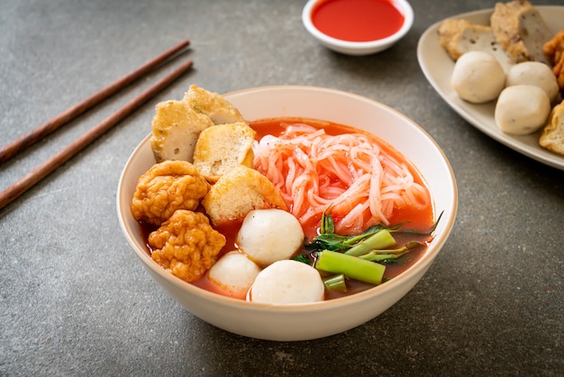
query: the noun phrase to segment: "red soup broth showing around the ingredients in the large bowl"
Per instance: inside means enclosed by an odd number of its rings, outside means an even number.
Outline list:
[[[260,119],[257,121],[250,122],[250,126],[257,132],[256,139],[260,140],[264,135],[273,134],[279,135],[282,133],[288,124],[310,124],[315,127],[323,127],[325,133],[336,135],[341,133],[365,133],[370,138],[373,139],[374,143],[377,143],[378,146],[381,148],[383,152],[394,156],[399,161],[404,161],[405,165],[411,171],[414,176],[414,181],[417,183],[426,186],[421,174],[418,170],[415,169],[414,165],[410,162],[405,160],[405,157],[396,149],[389,145],[388,143],[384,142],[383,140],[379,139],[378,137],[372,135],[371,133],[363,132],[362,130],[343,125],[343,124],[335,124],[326,121],[319,121],[313,119],[304,119],[304,118],[287,118],[287,117],[280,117],[280,118],[268,118],[268,119]],[[198,208],[198,210],[204,211],[202,207]],[[424,208],[423,210],[413,209],[413,208],[406,208],[406,209],[396,209],[394,210],[393,215],[390,217],[390,224],[396,225],[400,223],[407,223],[405,225],[406,229],[417,229],[420,231],[427,231],[432,228],[433,225],[433,208],[432,205]],[[239,247],[237,245],[237,233],[239,232],[239,228],[241,227],[240,224],[231,224],[227,226],[222,226],[217,230],[223,234],[226,238],[226,244],[220,253],[220,256],[224,253],[228,253],[232,250],[238,250]],[[310,241],[311,238],[314,237],[315,234],[318,234],[319,224],[308,224],[303,226],[304,233],[306,237],[309,237]],[[156,228],[152,225],[141,224],[141,231],[143,233],[144,240],[147,245],[148,253],[151,253],[149,243],[147,242],[149,238],[150,232],[155,230]],[[429,238],[427,235],[414,235],[414,234],[394,234],[394,238],[396,238],[398,245],[403,245],[408,241],[420,241],[425,242],[426,239]],[[405,254],[401,260],[398,262],[388,263],[386,267],[386,272],[384,273],[383,281],[387,281],[392,279],[402,273],[403,271],[407,270],[410,266],[414,264],[417,260],[421,258],[423,253],[425,252],[425,247],[420,247],[414,249],[412,252]],[[303,248],[298,253],[308,253],[305,248]],[[207,279],[207,275],[205,275],[202,279],[192,282],[192,284],[196,285],[197,287],[203,288],[205,290],[210,290],[219,294],[225,295],[225,292],[220,290],[217,286],[215,286],[211,281]],[[325,291],[325,299],[336,299],[343,296],[349,296],[352,293],[359,292],[362,290],[368,290],[369,288],[374,287],[372,284],[368,284],[365,282],[357,281],[357,280],[347,280],[348,290],[346,293],[335,292],[335,291]]]

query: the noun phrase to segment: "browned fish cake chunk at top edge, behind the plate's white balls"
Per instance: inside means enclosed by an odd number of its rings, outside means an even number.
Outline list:
[[[542,45],[552,37],[538,9],[528,1],[497,3],[490,17],[496,41],[515,62],[541,61],[550,64]]]

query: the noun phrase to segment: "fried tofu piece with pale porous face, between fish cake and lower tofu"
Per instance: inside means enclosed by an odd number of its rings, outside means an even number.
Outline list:
[[[233,168],[252,167],[256,132],[244,122],[206,128],[196,143],[194,166],[206,179],[216,181]]]

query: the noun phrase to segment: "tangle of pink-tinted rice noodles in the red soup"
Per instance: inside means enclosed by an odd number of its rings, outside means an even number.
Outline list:
[[[331,206],[335,231],[355,234],[389,225],[394,208],[423,208],[431,200],[402,161],[362,133],[329,135],[291,124],[253,144],[254,166],[280,191],[301,224],[320,221]]]

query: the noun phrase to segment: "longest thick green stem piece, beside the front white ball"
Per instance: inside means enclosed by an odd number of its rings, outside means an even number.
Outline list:
[[[342,273],[350,279],[366,281],[374,285],[382,282],[386,266],[356,256],[325,250],[317,253],[314,266],[317,270]]]

